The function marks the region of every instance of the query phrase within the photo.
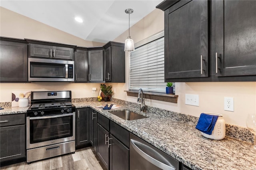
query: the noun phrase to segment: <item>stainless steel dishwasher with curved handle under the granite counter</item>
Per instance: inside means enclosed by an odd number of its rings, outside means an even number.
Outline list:
[[[130,170],[178,169],[178,160],[130,133]]]

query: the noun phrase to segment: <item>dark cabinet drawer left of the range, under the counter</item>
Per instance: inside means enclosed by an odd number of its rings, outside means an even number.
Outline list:
[[[0,116],[0,127],[25,124],[25,114],[12,114]]]

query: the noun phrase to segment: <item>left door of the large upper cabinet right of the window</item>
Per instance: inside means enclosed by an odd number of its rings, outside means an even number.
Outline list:
[[[208,1],[180,1],[164,15],[165,79],[207,77]]]

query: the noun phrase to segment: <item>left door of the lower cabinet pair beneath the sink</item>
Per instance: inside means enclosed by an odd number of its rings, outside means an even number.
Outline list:
[[[97,124],[97,154],[107,169],[109,169],[108,137],[109,132]]]

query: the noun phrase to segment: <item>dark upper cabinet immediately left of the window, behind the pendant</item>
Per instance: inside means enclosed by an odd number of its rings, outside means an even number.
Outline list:
[[[125,82],[124,43],[108,42],[104,47],[105,82]]]

